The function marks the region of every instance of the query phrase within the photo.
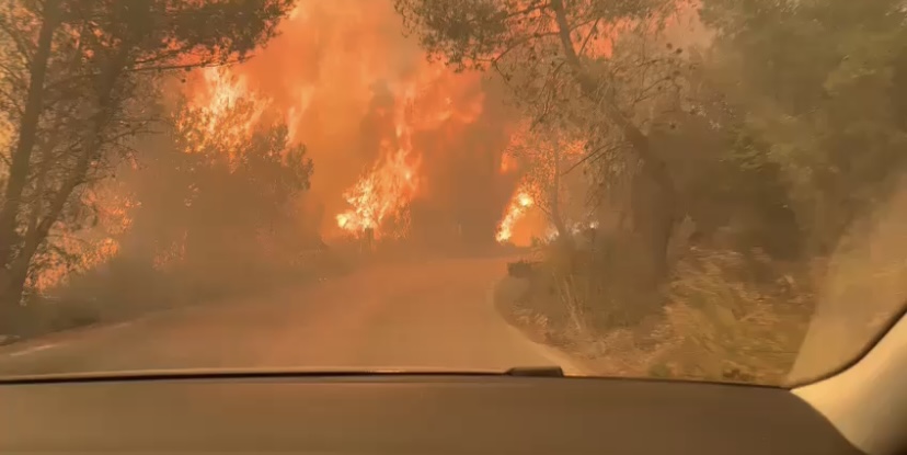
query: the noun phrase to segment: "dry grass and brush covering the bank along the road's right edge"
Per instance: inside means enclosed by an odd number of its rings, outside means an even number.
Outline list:
[[[530,338],[602,376],[778,384],[811,312],[805,272],[758,251],[691,249],[675,264],[666,305],[654,310],[648,296],[620,300],[633,288],[589,283],[607,274],[558,275],[559,263],[547,264],[519,293],[498,298],[514,300],[505,310]]]

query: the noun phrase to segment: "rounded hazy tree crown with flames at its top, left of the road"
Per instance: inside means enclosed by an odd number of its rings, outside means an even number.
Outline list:
[[[158,257],[175,244],[182,257],[173,266],[226,289],[289,271],[312,248],[317,239],[295,219],[312,161],[284,123],[256,122],[262,102],[248,94],[217,112],[181,103],[173,144],[146,156],[135,174],[142,206],[127,254]]]

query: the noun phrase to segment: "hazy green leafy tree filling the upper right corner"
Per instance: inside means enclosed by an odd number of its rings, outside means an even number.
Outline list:
[[[829,252],[907,164],[903,2],[709,0],[702,15],[737,144],[780,167],[811,252]]]

